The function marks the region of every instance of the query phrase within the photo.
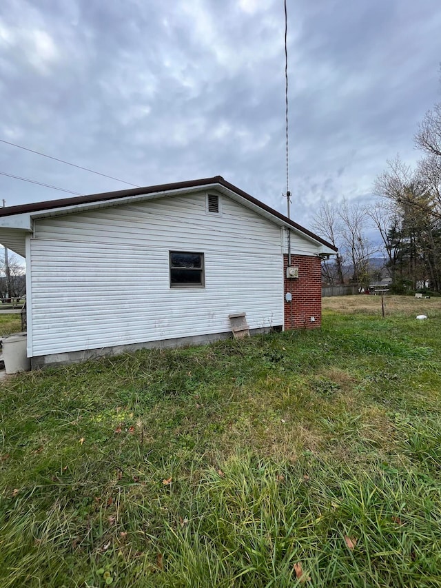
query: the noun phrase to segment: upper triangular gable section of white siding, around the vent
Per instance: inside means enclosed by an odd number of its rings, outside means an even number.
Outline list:
[[[262,216],[223,197],[222,214],[205,212],[205,194],[169,196],[133,205],[70,214],[35,221],[41,239],[73,239],[83,243],[121,243],[176,248],[197,247],[201,239],[220,250],[267,252],[278,247],[280,228]]]

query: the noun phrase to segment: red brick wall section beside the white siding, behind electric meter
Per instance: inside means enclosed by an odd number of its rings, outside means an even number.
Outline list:
[[[285,329],[315,329],[322,324],[322,271],[320,258],[291,255],[291,265],[298,267],[298,278],[286,277],[288,256],[283,256],[285,292],[292,301],[285,300]],[[311,316],[316,319],[311,323]]]

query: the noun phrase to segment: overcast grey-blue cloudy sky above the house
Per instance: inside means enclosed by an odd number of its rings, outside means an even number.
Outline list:
[[[369,201],[440,101],[440,0],[289,0],[289,187]],[[0,139],[152,185],[222,175],[285,212],[283,0],[1,0]],[[123,183],[0,143],[0,172]],[[0,176],[7,205],[68,194]]]

